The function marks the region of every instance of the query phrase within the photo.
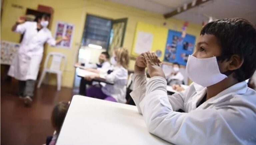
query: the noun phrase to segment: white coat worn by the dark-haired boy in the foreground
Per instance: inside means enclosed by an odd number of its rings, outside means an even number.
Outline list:
[[[132,80],[131,96],[150,133],[178,145],[256,144],[256,92],[245,81],[196,107],[207,90],[198,84],[167,96],[162,77],[146,81],[135,73]]]

